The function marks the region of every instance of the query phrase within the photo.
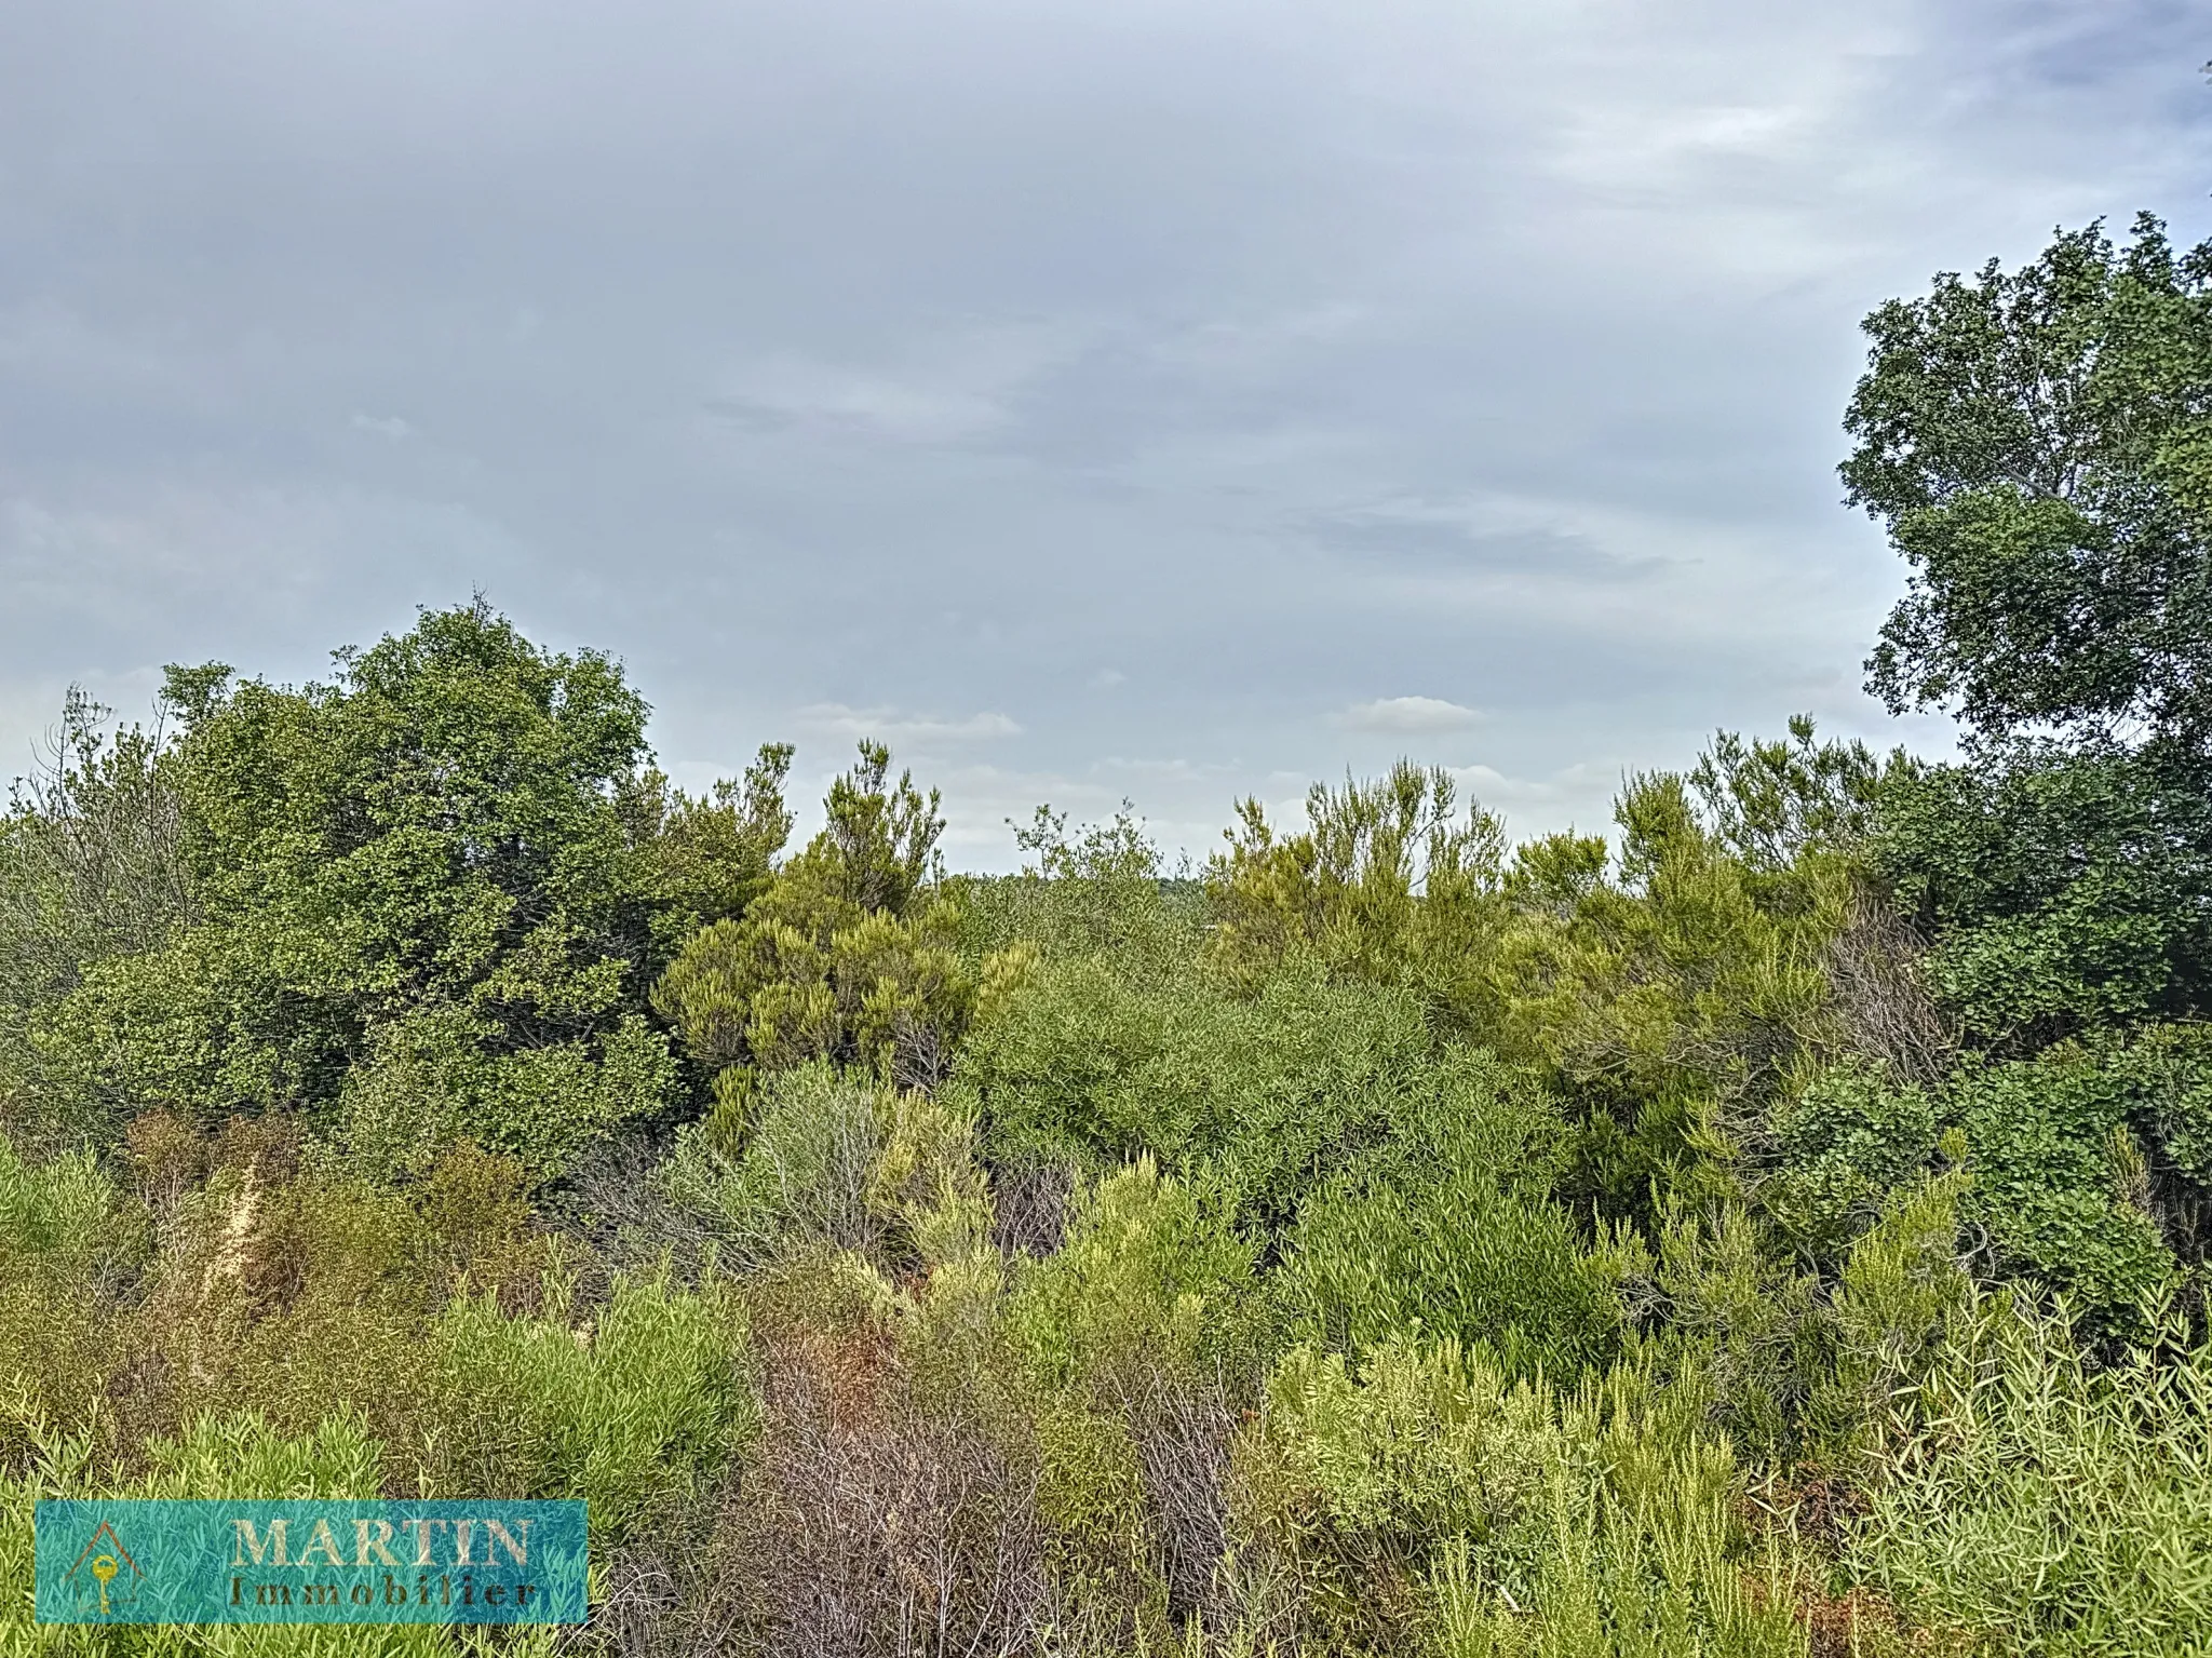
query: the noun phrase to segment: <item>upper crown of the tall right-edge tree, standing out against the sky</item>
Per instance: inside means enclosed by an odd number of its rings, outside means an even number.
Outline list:
[[[1867,323],[1849,502],[1911,562],[1867,661],[1984,741],[2212,743],[2212,241],[2143,214]]]

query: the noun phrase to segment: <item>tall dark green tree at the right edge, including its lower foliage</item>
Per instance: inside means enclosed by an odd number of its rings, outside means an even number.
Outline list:
[[[1843,478],[1911,564],[1867,663],[1964,767],[1885,862],[1984,1041],[2201,1012],[2212,988],[2212,243],[2139,219],[1867,318]]]

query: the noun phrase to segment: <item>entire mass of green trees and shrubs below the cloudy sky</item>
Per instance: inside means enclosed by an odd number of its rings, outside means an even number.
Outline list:
[[[71,699],[0,825],[0,1638],[69,1494],[591,1503],[577,1631],[84,1649],[2183,1654],[2212,1627],[2212,245],[1869,318],[1869,663],[1613,833],[1203,880],[703,798],[476,604]]]

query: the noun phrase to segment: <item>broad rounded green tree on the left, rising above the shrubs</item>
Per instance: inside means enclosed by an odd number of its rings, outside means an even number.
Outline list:
[[[35,1083],[80,1119],[305,1110],[365,1158],[469,1136],[557,1172],[672,1101],[650,982],[768,884],[790,752],[690,800],[613,661],[482,601],[336,665],[170,670],[190,902],[33,1010]]]

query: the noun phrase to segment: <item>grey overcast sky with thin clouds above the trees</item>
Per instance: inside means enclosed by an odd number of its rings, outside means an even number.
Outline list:
[[[1858,318],[2212,234],[2179,0],[9,0],[0,776],[484,592],[949,862],[1449,767],[1601,829],[1860,661]]]

